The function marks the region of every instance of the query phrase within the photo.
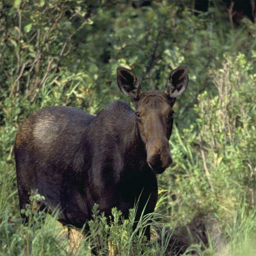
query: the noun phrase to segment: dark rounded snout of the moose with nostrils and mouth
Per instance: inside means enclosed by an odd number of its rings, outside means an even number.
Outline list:
[[[147,147],[147,163],[149,167],[156,173],[162,173],[172,163],[172,157],[168,146],[157,147],[148,145]]]

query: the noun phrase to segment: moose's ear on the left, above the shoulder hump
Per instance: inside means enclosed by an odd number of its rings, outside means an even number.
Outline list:
[[[116,70],[117,84],[121,92],[130,96],[134,101],[140,99],[142,93],[137,76],[125,67],[118,67]]]

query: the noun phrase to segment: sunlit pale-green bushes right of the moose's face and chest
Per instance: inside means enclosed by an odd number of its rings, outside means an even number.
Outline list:
[[[241,73],[239,67],[243,66]],[[167,172],[162,186],[186,198],[182,200],[183,207],[188,206],[184,216],[180,216],[183,221],[188,212],[192,218],[195,212],[198,215],[215,212],[218,207],[236,209],[244,193],[247,204],[254,207],[256,76],[250,73],[252,70],[253,65],[244,55],[233,58],[227,55],[223,68],[211,71],[210,75],[218,95],[204,91],[198,96],[198,104],[194,106],[197,126],[191,125],[181,132],[175,128],[171,138],[175,159],[171,172],[175,179],[166,179]],[[177,191],[173,192],[175,188]]]

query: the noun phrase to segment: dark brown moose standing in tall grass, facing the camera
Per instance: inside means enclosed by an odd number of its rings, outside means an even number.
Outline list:
[[[172,163],[172,107],[188,85],[188,67],[173,70],[164,91],[143,92],[131,70],[116,72],[135,111],[115,101],[96,116],[50,107],[23,121],[15,141],[20,209],[32,204],[29,197],[37,191],[44,196],[36,202],[38,211],[58,207],[58,221],[78,228],[90,220],[94,204],[105,215],[116,207],[128,218],[137,201],[135,220],[154,212],[157,174]],[[149,225],[145,236],[150,239]]]

